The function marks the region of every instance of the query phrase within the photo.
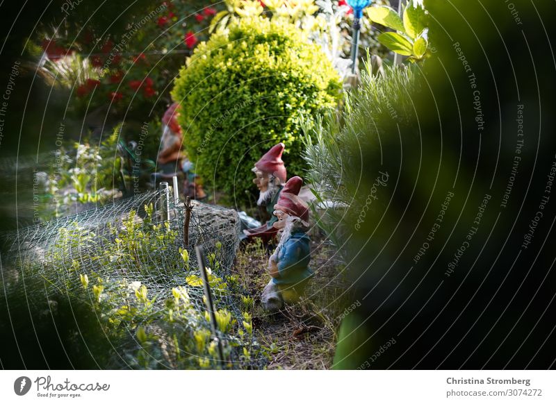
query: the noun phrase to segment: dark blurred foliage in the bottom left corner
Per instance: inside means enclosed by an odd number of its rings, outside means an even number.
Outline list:
[[[34,287],[40,285],[26,282],[28,291]],[[92,303],[62,293],[21,292],[15,287],[2,293],[2,300],[9,302],[0,304],[2,369],[99,369],[99,364],[124,364],[114,348],[120,341],[106,337]]]

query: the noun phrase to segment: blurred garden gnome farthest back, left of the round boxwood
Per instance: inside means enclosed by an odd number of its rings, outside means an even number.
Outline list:
[[[177,117],[179,115],[179,104],[173,103],[164,112],[162,117],[161,151],[158,153],[158,167],[163,174],[179,173],[183,171],[186,180],[183,190],[186,196],[193,199],[204,199],[206,193],[202,187],[202,181],[193,172],[193,164],[181,151],[183,135]]]

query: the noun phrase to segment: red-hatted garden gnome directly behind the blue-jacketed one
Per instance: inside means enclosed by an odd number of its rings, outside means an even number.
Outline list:
[[[271,219],[263,226],[243,230],[248,239],[260,237],[264,243],[267,243],[278,233],[278,229],[272,226],[278,220],[272,212],[286,182],[286,167],[282,161],[282,153],[284,153],[284,143],[272,146],[272,149],[265,153],[252,169],[256,176],[253,183],[259,188],[259,200],[256,203],[259,206],[266,205],[266,211]]]

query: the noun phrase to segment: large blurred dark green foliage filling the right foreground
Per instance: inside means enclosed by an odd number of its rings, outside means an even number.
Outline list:
[[[555,37],[554,2],[515,0],[509,8],[502,1],[431,0],[425,6],[436,53],[423,66],[420,90],[411,94],[411,124],[398,132],[392,120],[380,139],[352,151],[362,153],[357,192],[372,193],[379,171],[388,171],[389,184],[379,194],[383,208],[350,239],[348,265],[361,307],[343,323],[335,366],[554,367],[556,188],[545,193],[556,162],[556,64],[549,41]],[[455,42],[471,71],[465,71]],[[504,208],[515,156],[521,160]],[[454,197],[430,241],[448,192]],[[450,273],[448,264],[474,226],[485,194],[491,199],[477,233]],[[550,199],[539,209],[546,195]],[[538,211],[543,217],[524,248]],[[428,248],[414,262],[425,242]],[[396,343],[385,349],[392,338]]]

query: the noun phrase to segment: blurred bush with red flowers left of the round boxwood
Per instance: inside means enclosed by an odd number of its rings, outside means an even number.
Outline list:
[[[43,32],[47,39],[42,39],[42,50],[54,62],[45,67],[53,77],[68,67],[76,69],[73,80],[63,84],[79,112],[109,106],[119,115],[144,118],[156,103],[158,115],[170,101],[167,83],[179,71],[183,56],[206,40],[218,7],[207,0],[164,1],[125,13],[122,18],[129,24],[123,32],[110,29],[99,36],[86,25],[76,37]],[[163,102],[157,102],[160,99]]]

